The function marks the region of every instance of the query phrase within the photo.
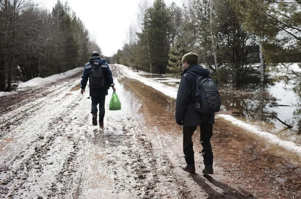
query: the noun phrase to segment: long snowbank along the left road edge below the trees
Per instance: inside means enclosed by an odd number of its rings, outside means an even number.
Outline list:
[[[70,71],[66,71],[64,73],[52,75],[52,76],[45,77],[45,78],[36,77],[34,79],[31,79],[29,81],[19,84],[18,88],[27,88],[27,87],[31,87],[31,86],[44,86],[44,85],[54,83],[59,80],[74,76],[78,72],[83,71],[83,69],[84,69],[83,67],[79,67],[79,68],[72,69]]]

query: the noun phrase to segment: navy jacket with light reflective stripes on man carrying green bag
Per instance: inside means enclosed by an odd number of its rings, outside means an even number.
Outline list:
[[[89,62],[84,67],[84,71],[82,72],[81,88],[82,89],[86,88],[92,68],[94,68],[96,65],[101,66],[103,74],[106,77],[106,81],[104,81],[104,86],[102,88],[90,87],[91,97],[108,95],[108,89],[110,88],[110,86],[115,85],[115,83],[113,82],[112,72],[109,68],[109,65],[106,63],[105,60],[102,60],[100,57],[95,56],[95,57],[91,57],[89,59]]]

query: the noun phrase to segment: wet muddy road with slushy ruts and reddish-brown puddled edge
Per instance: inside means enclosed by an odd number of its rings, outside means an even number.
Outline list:
[[[216,118],[214,175],[184,172],[175,100],[111,65],[121,111],[92,126],[81,74],[0,98],[2,198],[301,198],[301,159]],[[88,89],[87,89],[88,90]]]

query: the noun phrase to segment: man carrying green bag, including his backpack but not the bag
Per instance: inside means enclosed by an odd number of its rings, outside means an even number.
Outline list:
[[[97,105],[99,104],[99,126],[103,126],[105,114],[105,99],[110,86],[116,91],[113,82],[112,72],[105,60],[102,60],[98,52],[92,52],[89,62],[85,65],[82,73],[81,93],[85,92],[89,80],[90,96],[92,100],[91,113],[92,124],[97,125]]]

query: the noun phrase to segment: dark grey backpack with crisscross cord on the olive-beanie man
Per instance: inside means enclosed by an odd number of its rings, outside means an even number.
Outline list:
[[[209,76],[201,76],[195,72],[187,71],[196,76],[195,97],[193,107],[199,113],[212,114],[220,111],[222,103],[219,89]]]

